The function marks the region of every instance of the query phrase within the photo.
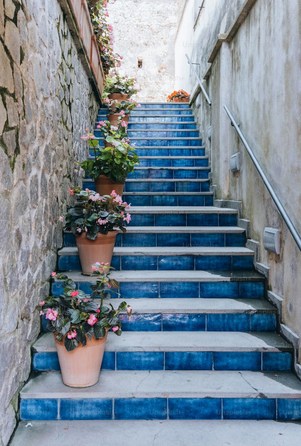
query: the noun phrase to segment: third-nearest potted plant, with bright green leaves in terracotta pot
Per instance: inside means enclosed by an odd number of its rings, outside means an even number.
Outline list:
[[[125,127],[120,120],[120,126],[112,126],[109,121],[101,121],[98,128],[103,132],[104,144],[99,146],[99,140],[92,133],[82,136],[94,150],[94,159],[78,163],[86,172],[86,176],[95,180],[96,192],[109,195],[115,189],[120,196],[123,194],[125,178],[139,164],[135,144],[129,144]],[[120,139],[121,138],[121,139]]]

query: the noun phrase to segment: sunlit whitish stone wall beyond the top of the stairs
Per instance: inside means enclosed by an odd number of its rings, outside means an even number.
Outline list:
[[[140,102],[165,101],[173,92],[176,0],[116,0],[108,5],[118,36],[114,50],[124,57],[120,73],[137,78]],[[142,58],[142,68],[138,68]]]

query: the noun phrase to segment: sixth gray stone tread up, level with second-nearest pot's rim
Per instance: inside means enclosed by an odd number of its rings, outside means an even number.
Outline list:
[[[139,192],[136,193],[140,195]],[[127,193],[128,195],[128,193]],[[121,233],[119,229],[118,232]],[[128,234],[241,234],[245,230],[237,226],[129,226]],[[71,231],[65,231],[71,234]]]

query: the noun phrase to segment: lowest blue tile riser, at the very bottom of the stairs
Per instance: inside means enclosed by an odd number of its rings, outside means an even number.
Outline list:
[[[113,409],[114,408],[114,409]],[[21,399],[21,420],[299,420],[301,399]]]

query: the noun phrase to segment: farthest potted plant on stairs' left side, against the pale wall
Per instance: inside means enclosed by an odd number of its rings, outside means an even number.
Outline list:
[[[128,78],[127,75],[120,76],[115,70],[112,70],[111,75],[107,76],[104,97],[119,102],[126,101],[137,93],[137,90],[134,88],[136,80],[136,78]]]

